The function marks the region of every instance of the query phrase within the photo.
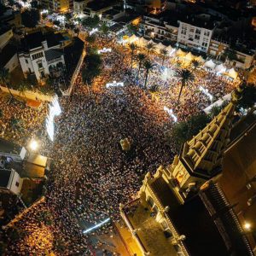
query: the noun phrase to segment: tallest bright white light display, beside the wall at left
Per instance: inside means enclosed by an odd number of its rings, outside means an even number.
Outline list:
[[[49,114],[46,118],[46,131],[51,141],[54,140],[54,135],[55,135],[54,119],[55,119],[55,116],[58,116],[60,114],[61,114],[61,107],[58,102],[57,96],[55,96],[54,100],[49,104]]]

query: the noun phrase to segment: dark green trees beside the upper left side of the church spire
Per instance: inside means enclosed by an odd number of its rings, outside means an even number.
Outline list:
[[[210,117],[205,114],[199,114],[191,117],[187,121],[175,123],[172,127],[170,140],[174,140],[174,147],[178,151],[183,143],[189,141],[195,136],[200,130],[202,130],[207,123],[210,122]],[[173,143],[173,141],[172,141]]]

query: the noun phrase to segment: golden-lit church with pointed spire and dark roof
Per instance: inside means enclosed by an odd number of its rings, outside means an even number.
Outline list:
[[[120,206],[137,244],[137,252],[132,253],[253,256],[236,213],[218,185],[240,92],[236,90],[230,104],[183,144],[172,165],[160,166],[154,175],[148,172],[137,200]]]

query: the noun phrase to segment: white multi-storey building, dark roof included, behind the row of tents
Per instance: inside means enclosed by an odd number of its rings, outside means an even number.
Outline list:
[[[177,43],[207,52],[216,23],[210,15],[187,16],[178,21]]]

